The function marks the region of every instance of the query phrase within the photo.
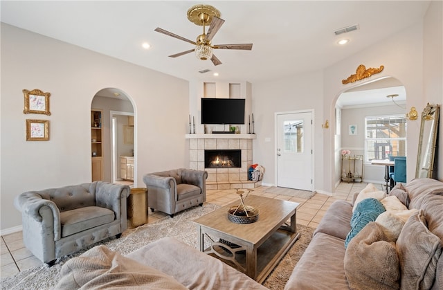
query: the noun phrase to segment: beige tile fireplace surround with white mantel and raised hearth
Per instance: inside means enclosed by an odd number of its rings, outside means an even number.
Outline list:
[[[187,134],[189,140],[189,167],[206,170],[206,189],[256,188],[262,181],[248,181],[252,163],[252,140],[255,134]],[[205,149],[241,149],[241,168],[205,168]]]

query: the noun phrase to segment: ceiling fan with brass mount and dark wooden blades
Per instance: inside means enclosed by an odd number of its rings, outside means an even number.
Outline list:
[[[195,45],[195,48],[192,48],[189,51],[183,51],[181,53],[170,55],[169,57],[179,57],[181,55],[186,55],[188,53],[192,53],[192,51],[195,51],[195,55],[197,56],[197,58],[199,58],[200,60],[210,59],[213,64],[217,66],[221,64],[221,62],[213,54],[213,49],[242,49],[246,51],[251,51],[252,49],[252,44],[211,44],[211,40],[213,39],[215,33],[217,33],[221,25],[224,24],[224,20],[220,18],[219,10],[217,10],[213,6],[204,4],[192,6],[188,10],[188,19],[198,26],[203,26],[203,34],[199,35],[197,37],[197,41],[195,42],[174,33],[170,33],[168,30],[164,30],[159,27],[154,29],[154,31],[158,33],[163,33],[165,35],[169,35],[177,39],[181,39],[184,42],[189,42],[190,44]],[[206,33],[206,26],[208,25],[208,33]]]

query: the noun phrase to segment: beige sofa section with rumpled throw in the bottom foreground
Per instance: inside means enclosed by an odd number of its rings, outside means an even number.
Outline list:
[[[165,237],[126,256],[96,246],[63,265],[54,289],[266,289],[224,262]]]

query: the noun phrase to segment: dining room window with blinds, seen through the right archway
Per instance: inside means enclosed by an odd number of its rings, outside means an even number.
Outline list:
[[[365,117],[365,161],[406,156],[406,116]]]

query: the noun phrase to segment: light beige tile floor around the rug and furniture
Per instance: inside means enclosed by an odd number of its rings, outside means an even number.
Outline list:
[[[266,188],[269,188],[268,186],[255,188],[251,194],[300,203],[300,206],[297,208],[297,223],[316,228],[331,203],[337,199],[352,201],[354,192],[361,191],[366,185],[367,183],[340,183],[338,188],[336,188],[334,196],[331,197],[326,194],[316,193],[311,199],[300,199],[282,194],[271,194],[266,192]],[[381,190],[383,190],[382,185],[379,186]],[[216,203],[219,206],[225,206],[238,198],[238,194],[235,193],[235,190],[208,190],[206,192],[206,201],[209,203]],[[166,215],[163,212],[149,211],[148,223],[156,222],[158,219],[165,216]],[[0,278],[6,278],[19,273],[19,271],[24,271],[42,264],[42,262],[24,247],[22,239],[23,236],[21,231],[1,236]]]

